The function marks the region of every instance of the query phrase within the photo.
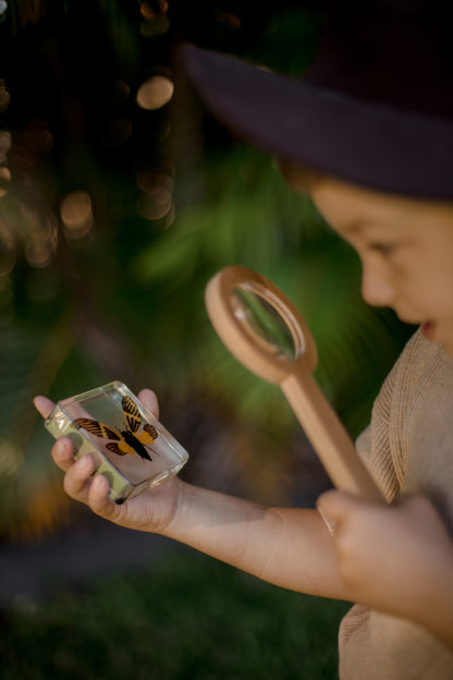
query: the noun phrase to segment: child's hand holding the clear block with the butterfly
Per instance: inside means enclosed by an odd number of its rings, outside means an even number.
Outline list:
[[[158,403],[151,390],[143,390],[138,398],[158,416]],[[35,406],[46,418],[54,404],[46,397],[36,397]],[[176,508],[177,479],[170,479],[123,505],[117,505],[108,497],[106,477],[91,477],[95,472],[93,459],[84,456],[75,461],[73,453],[73,445],[68,437],[61,437],[52,447],[52,458],[65,473],[64,490],[71,498],[86,503],[96,514],[128,529],[161,533],[170,524]]]

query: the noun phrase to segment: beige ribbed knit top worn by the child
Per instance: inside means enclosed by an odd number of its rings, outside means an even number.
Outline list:
[[[388,500],[400,491],[429,496],[453,535],[453,361],[420,331],[382,386],[357,448]],[[341,680],[453,680],[453,649],[358,605],[343,619],[339,644]]]

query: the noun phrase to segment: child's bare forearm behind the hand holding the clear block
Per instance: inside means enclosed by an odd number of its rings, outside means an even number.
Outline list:
[[[277,585],[344,596],[333,543],[316,510],[266,508],[184,484],[164,534]]]

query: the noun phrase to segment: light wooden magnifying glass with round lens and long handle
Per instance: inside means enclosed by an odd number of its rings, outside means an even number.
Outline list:
[[[246,267],[226,267],[206,288],[219,338],[246,368],[279,385],[336,488],[383,502],[354,442],[311,377],[315,340],[291,301]]]

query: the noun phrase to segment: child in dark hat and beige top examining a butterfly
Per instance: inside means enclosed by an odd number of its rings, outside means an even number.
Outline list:
[[[345,680],[453,678],[453,51],[441,5],[406,4],[332,3],[301,82],[185,52],[208,106],[356,248],[365,300],[420,324],[357,441],[389,505],[332,490],[319,511],[266,508],[176,478],[115,506],[90,458],[64,437],[52,449],[66,493],[101,517],[359,603],[340,631]]]

